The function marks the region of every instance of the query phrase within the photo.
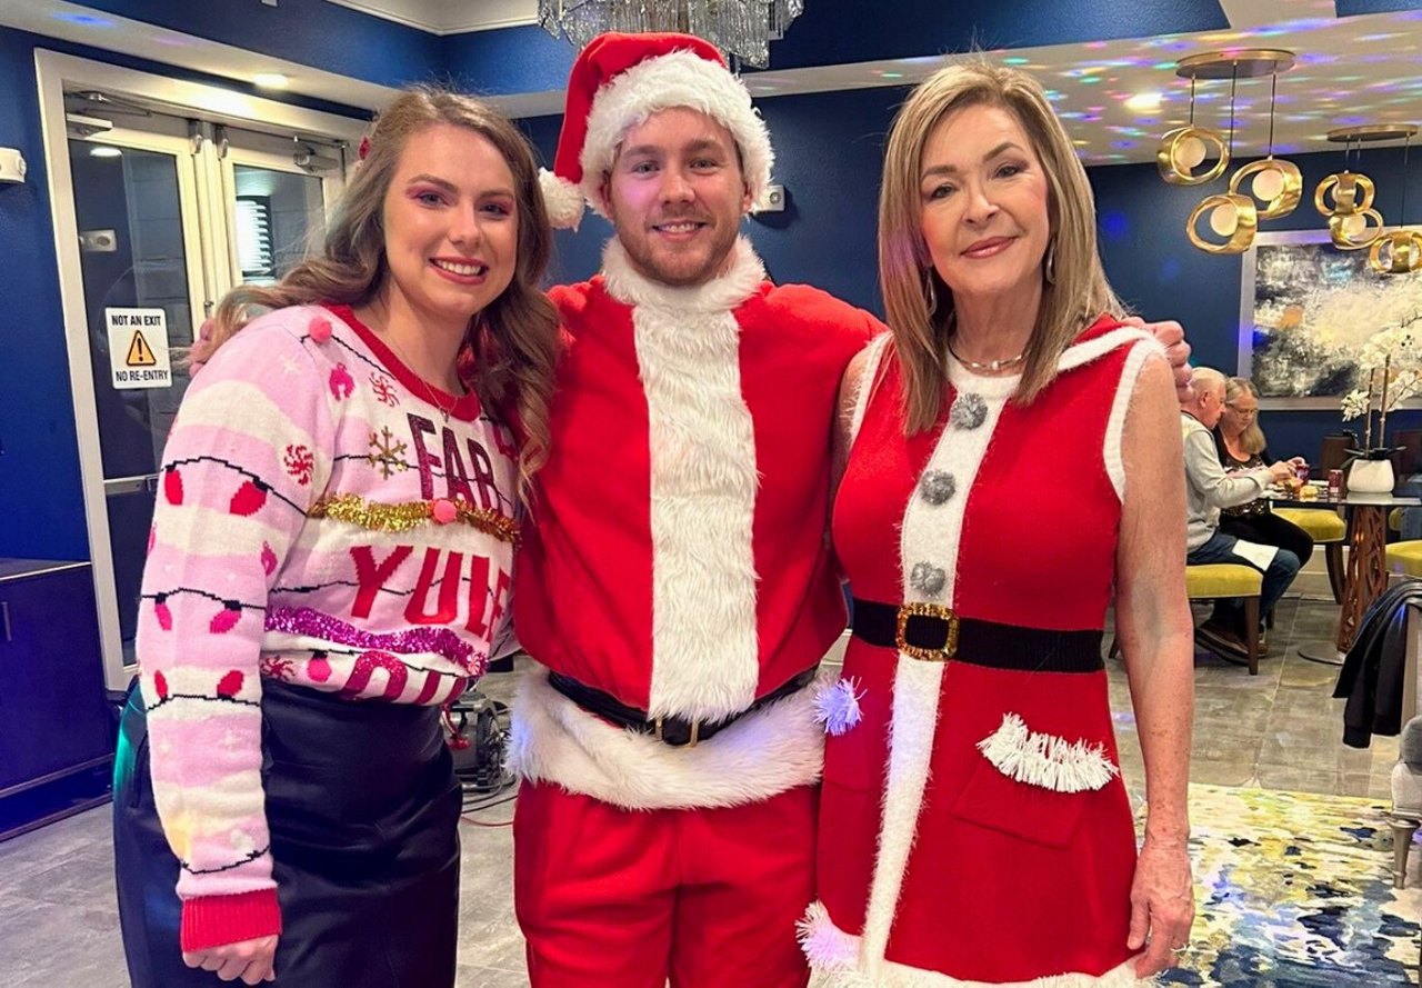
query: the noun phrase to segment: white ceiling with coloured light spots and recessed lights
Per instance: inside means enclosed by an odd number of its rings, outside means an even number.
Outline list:
[[[280,0],[279,0],[280,1]],[[532,23],[538,0],[328,0],[391,20],[452,31]],[[815,0],[806,0],[813,6]],[[1369,14],[1338,20],[1332,0],[1221,0],[1230,30],[1200,34],[1096,41],[1076,45],[993,51],[993,60],[1018,64],[1049,90],[1086,163],[1153,161],[1160,134],[1186,122],[1189,82],[1175,75],[1175,63],[1189,54],[1239,47],[1285,48],[1297,64],[1278,77],[1276,151],[1324,151],[1324,135],[1338,127],[1378,122],[1422,122],[1422,11]],[[283,63],[260,53],[155,28],[104,14],[100,30],[63,20],[60,13],[92,9],[64,0],[0,0],[0,24],[65,37],[134,55],[250,80],[257,71],[282,71],[292,87],[309,95],[360,107],[377,107],[384,87]],[[795,30],[793,24],[789,28]],[[771,50],[774,65],[774,47]],[[856,65],[748,74],[757,97],[796,92],[907,85],[930,74],[940,58],[909,58]],[[1229,81],[1200,82],[1196,122],[1229,131]],[[1162,94],[1156,111],[1129,109],[1126,98]],[[1268,78],[1239,84],[1236,154],[1266,151]],[[562,109],[559,92],[502,97],[513,115]]]

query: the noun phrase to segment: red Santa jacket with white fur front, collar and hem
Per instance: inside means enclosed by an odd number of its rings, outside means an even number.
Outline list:
[[[613,240],[603,274],[552,299],[566,351],[515,567],[519,641],[653,716],[738,714],[845,627],[830,428],[840,375],[882,326],[771,284],[745,240],[690,289],[640,276]],[[526,778],[634,807],[762,799],[813,782],[820,748],[808,697],[685,749],[597,719],[539,671],[515,708]]]

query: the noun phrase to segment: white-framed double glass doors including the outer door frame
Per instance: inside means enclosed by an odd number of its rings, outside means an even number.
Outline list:
[[[34,63],[104,681],[122,689],[183,351],[228,290],[279,279],[314,240],[367,124],[54,51]]]

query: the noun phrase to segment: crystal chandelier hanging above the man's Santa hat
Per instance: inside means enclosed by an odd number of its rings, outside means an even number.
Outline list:
[[[538,0],[538,23],[577,48],[603,31],[681,31],[757,68],[803,11],[805,0]]]

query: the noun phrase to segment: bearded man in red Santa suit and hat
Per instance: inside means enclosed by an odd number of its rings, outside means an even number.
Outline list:
[[[738,227],[772,158],[700,38],[604,34],[573,65],[545,192],[555,223],[586,199],[616,237],[600,274],[550,293],[566,350],[515,577],[535,988],[809,978],[813,680],[846,618],[830,424],[883,327],[766,279]]]

